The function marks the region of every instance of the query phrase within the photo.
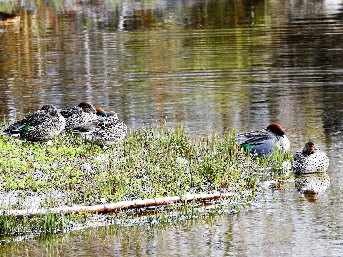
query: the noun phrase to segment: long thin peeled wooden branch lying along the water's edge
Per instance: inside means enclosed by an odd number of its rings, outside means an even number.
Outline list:
[[[89,205],[81,206],[74,205],[72,207],[60,207],[60,208],[38,208],[38,209],[20,209],[20,210],[0,210],[0,215],[14,215],[14,216],[35,216],[35,215],[44,215],[47,213],[79,213],[79,212],[111,212],[115,210],[127,210],[133,208],[144,208],[151,206],[159,205],[171,205],[180,203],[182,201],[201,201],[201,200],[212,200],[218,198],[231,198],[235,197],[236,194],[221,194],[216,192],[213,194],[186,194],[181,197],[172,196],[172,197],[161,197],[161,198],[152,198],[144,200],[133,200],[133,201],[121,201],[113,204],[102,204],[102,205]]]

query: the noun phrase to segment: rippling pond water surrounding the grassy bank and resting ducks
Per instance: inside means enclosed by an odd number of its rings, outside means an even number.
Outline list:
[[[293,174],[270,183],[275,178],[261,176],[267,193],[238,216],[125,233],[88,228],[5,244],[1,254],[342,256],[342,7],[334,0],[0,0],[0,115],[85,100],[116,111],[129,128],[168,118],[209,135],[278,123],[293,154],[308,141],[326,152],[331,180],[313,197],[297,191]]]

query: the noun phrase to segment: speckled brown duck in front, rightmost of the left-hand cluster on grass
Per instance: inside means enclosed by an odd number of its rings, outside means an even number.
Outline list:
[[[118,119],[117,113],[109,111],[105,118],[74,126],[73,133],[100,147],[121,141],[127,134],[127,126]]]

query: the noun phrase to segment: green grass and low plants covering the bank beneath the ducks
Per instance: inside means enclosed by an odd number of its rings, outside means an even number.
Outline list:
[[[13,225],[18,217],[5,215],[5,210],[52,210],[186,194],[251,195],[258,187],[253,174],[283,172],[283,161],[290,159],[288,153],[247,156],[234,142],[234,130],[196,137],[185,133],[182,124],[172,128],[167,121],[131,130],[117,146],[103,149],[64,133],[43,144],[21,141],[3,135],[7,126],[5,121],[0,124],[1,235],[27,231],[24,225]],[[56,230],[70,223],[70,216],[49,211],[21,219],[30,228],[35,221],[40,231],[49,231],[47,224]]]

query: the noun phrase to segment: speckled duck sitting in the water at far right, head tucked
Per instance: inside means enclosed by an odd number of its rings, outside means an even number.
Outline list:
[[[324,172],[329,167],[329,158],[322,149],[308,142],[294,155],[295,173]]]

